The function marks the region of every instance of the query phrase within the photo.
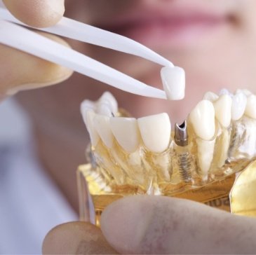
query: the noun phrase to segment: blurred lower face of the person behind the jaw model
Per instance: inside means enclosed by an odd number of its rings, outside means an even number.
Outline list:
[[[79,104],[113,92],[134,116],[166,111],[181,122],[209,90],[248,88],[256,84],[255,0],[80,0],[67,1],[66,15],[128,36],[186,71],[182,102],[138,97],[74,74],[51,88],[23,92],[20,99],[34,118],[50,127],[84,132]],[[69,41],[76,49],[149,85],[161,88],[161,67],[137,57]],[[31,110],[33,109],[33,110]]]

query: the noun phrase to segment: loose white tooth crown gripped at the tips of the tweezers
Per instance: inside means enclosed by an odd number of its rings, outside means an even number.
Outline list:
[[[185,71],[180,67],[163,67],[161,69],[163,89],[170,100],[180,100],[185,95]]]

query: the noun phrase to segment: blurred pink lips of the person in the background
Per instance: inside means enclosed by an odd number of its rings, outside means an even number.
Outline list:
[[[141,10],[100,25],[116,34],[127,36],[147,46],[183,46],[198,41],[229,21],[227,15],[195,8]]]

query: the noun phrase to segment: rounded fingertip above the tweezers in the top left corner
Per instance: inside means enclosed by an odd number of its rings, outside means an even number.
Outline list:
[[[50,27],[60,21],[65,12],[64,0],[3,0],[8,10],[32,27]]]

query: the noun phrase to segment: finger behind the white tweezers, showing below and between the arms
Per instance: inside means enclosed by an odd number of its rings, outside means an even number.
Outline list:
[[[39,33],[64,46],[68,44],[58,36]],[[40,88],[60,83],[72,71],[38,57],[0,44],[0,95],[13,95],[20,90]]]

